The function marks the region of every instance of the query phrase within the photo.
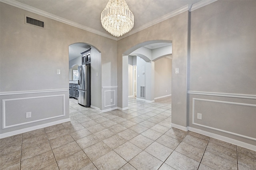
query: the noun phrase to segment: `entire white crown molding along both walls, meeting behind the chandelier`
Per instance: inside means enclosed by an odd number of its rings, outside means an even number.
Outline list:
[[[170,12],[169,14],[166,14],[166,15],[164,15],[164,16],[162,16],[162,17],[156,19],[156,20],[153,20],[153,21],[151,21],[151,22],[149,22],[149,23],[146,23],[146,24],[144,24],[144,25],[142,25],[142,26],[140,26],[140,27],[138,27],[138,28],[136,28],[136,29],[132,29],[130,32],[126,33],[125,35],[122,35],[121,37],[118,37],[118,38],[117,38],[117,37],[114,37],[114,36],[109,35],[109,34],[107,34],[107,33],[103,33],[103,32],[101,32],[101,31],[98,31],[98,30],[96,30],[96,29],[92,29],[92,28],[90,28],[90,27],[86,27],[86,26],[81,25],[81,24],[79,24],[79,23],[76,23],[76,22],[73,22],[73,21],[70,21],[70,20],[66,20],[66,19],[64,19],[64,18],[58,17],[58,16],[53,15],[53,14],[50,14],[50,13],[48,13],[48,12],[44,12],[44,11],[39,10],[39,9],[37,9],[37,8],[33,8],[33,7],[31,7],[31,6],[22,4],[22,3],[20,3],[20,2],[15,1],[15,0],[0,0],[0,2],[4,2],[4,3],[6,3],[6,4],[15,6],[15,7],[17,7],[17,8],[21,8],[21,9],[23,9],[23,10],[27,10],[27,11],[29,11],[29,12],[33,12],[33,13],[35,13],[35,14],[38,14],[38,15],[41,15],[41,16],[50,18],[50,19],[52,19],[52,20],[56,20],[56,21],[60,21],[60,22],[62,22],[62,23],[66,23],[66,24],[68,24],[68,25],[71,25],[71,26],[74,26],[74,27],[83,29],[83,30],[85,30],[85,31],[89,31],[89,32],[91,32],[91,33],[95,33],[95,34],[101,35],[101,36],[103,36],[103,37],[107,37],[107,38],[110,38],[110,39],[114,39],[114,40],[116,40],[116,41],[118,41],[118,40],[120,40],[120,39],[123,39],[123,38],[125,38],[125,37],[128,37],[128,36],[130,36],[130,35],[132,35],[132,34],[134,34],[134,33],[137,33],[137,32],[139,32],[139,31],[142,31],[143,29],[146,29],[146,28],[148,28],[148,27],[151,27],[152,25],[155,25],[155,24],[157,24],[157,23],[160,23],[160,22],[162,22],[162,21],[164,21],[164,20],[167,20],[167,19],[169,19],[169,18],[172,18],[172,17],[174,17],[174,16],[176,16],[176,15],[178,15],[178,14],[181,14],[182,12],[186,12],[186,11],[190,11],[190,12],[191,12],[191,11],[194,11],[194,10],[196,10],[196,9],[198,9],[198,8],[201,8],[201,7],[203,7],[203,6],[206,6],[206,5],[208,5],[208,4],[212,3],[212,2],[215,2],[215,1],[217,1],[217,0],[202,0],[202,1],[200,1],[200,2],[198,2],[198,3],[196,3],[196,4],[194,4],[194,5],[188,4],[188,5],[183,6],[183,7],[179,8],[179,9],[173,11],[173,12]]]

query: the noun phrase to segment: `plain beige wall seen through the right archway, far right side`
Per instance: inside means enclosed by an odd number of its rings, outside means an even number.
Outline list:
[[[166,92],[167,90],[167,92]],[[155,95],[154,98],[172,94],[172,59],[162,57],[155,61]]]

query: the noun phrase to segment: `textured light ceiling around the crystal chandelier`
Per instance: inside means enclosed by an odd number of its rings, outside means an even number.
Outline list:
[[[184,6],[201,0],[126,0],[134,14],[134,28],[142,27]],[[54,16],[109,34],[101,25],[100,14],[108,0],[16,0]],[[109,34],[110,35],[110,34]]]

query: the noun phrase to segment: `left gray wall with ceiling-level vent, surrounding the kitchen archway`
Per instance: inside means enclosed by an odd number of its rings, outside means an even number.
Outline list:
[[[69,120],[68,46],[73,43],[87,43],[102,53],[97,89],[117,85],[115,40],[0,3],[1,137]],[[44,21],[45,29],[24,24],[24,16]],[[98,100],[104,103],[104,98]],[[32,117],[24,119],[29,111]]]

